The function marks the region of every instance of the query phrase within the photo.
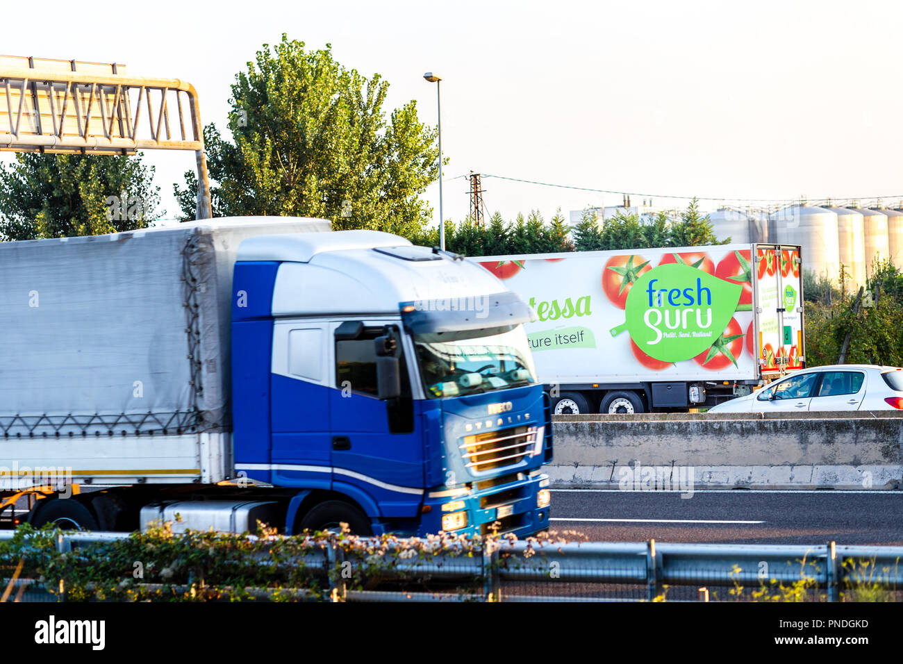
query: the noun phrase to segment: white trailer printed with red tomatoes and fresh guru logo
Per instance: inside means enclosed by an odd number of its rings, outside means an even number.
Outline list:
[[[556,414],[712,407],[805,366],[799,246],[472,257],[535,311]]]

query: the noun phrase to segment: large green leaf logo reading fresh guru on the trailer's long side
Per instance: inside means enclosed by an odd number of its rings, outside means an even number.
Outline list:
[[[627,296],[630,338],[656,360],[689,360],[718,341],[742,291],[743,286],[694,267],[656,267]]]

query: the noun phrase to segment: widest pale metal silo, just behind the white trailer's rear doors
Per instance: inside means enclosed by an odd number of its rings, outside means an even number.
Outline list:
[[[837,213],[809,205],[792,205],[768,215],[768,242],[800,245],[803,268],[836,282],[840,248]]]

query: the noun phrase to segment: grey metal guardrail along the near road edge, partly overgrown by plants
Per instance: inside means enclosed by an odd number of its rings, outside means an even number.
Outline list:
[[[14,537],[0,531],[0,540]],[[57,550],[76,550],[130,537],[124,533],[71,532],[57,536]],[[175,536],[178,537],[178,536]],[[254,536],[248,536],[254,537]],[[338,540],[321,540],[304,566],[327,574],[342,564],[361,565],[373,556],[375,547],[388,552],[404,551],[413,540],[383,542],[379,538],[359,538],[351,547]],[[416,540],[421,544],[423,539]],[[466,555],[470,553],[470,555]],[[462,555],[465,554],[465,555]],[[552,540],[486,540],[481,548],[455,546],[436,549],[430,556],[397,556],[392,575],[408,582],[417,579],[477,579],[481,592],[406,592],[354,590],[342,578],[330,576],[333,601],[623,601],[613,596],[545,594],[546,589],[579,584],[600,588],[610,585],[643,589],[653,601],[664,596],[669,586],[691,586],[699,598],[707,600],[707,587],[738,587],[763,582],[793,585],[804,581],[824,590],[824,599],[836,602],[841,589],[857,584],[889,591],[903,591],[903,547],[848,547],[834,542],[817,546],[748,546],[737,544],[668,544],[647,542],[554,542]],[[26,582],[27,580],[22,580]],[[20,582],[20,583],[22,583]],[[542,586],[543,594],[503,592],[505,585]],[[706,588],[700,588],[704,585]],[[253,589],[265,597],[266,589]],[[294,591],[302,598],[306,591]],[[696,594],[694,593],[694,597]],[[669,600],[671,601],[671,600]]]

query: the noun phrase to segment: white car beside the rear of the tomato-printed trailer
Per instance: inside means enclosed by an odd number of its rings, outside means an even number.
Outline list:
[[[801,369],[710,413],[796,410],[903,409],[903,369],[874,364],[833,364]]]

